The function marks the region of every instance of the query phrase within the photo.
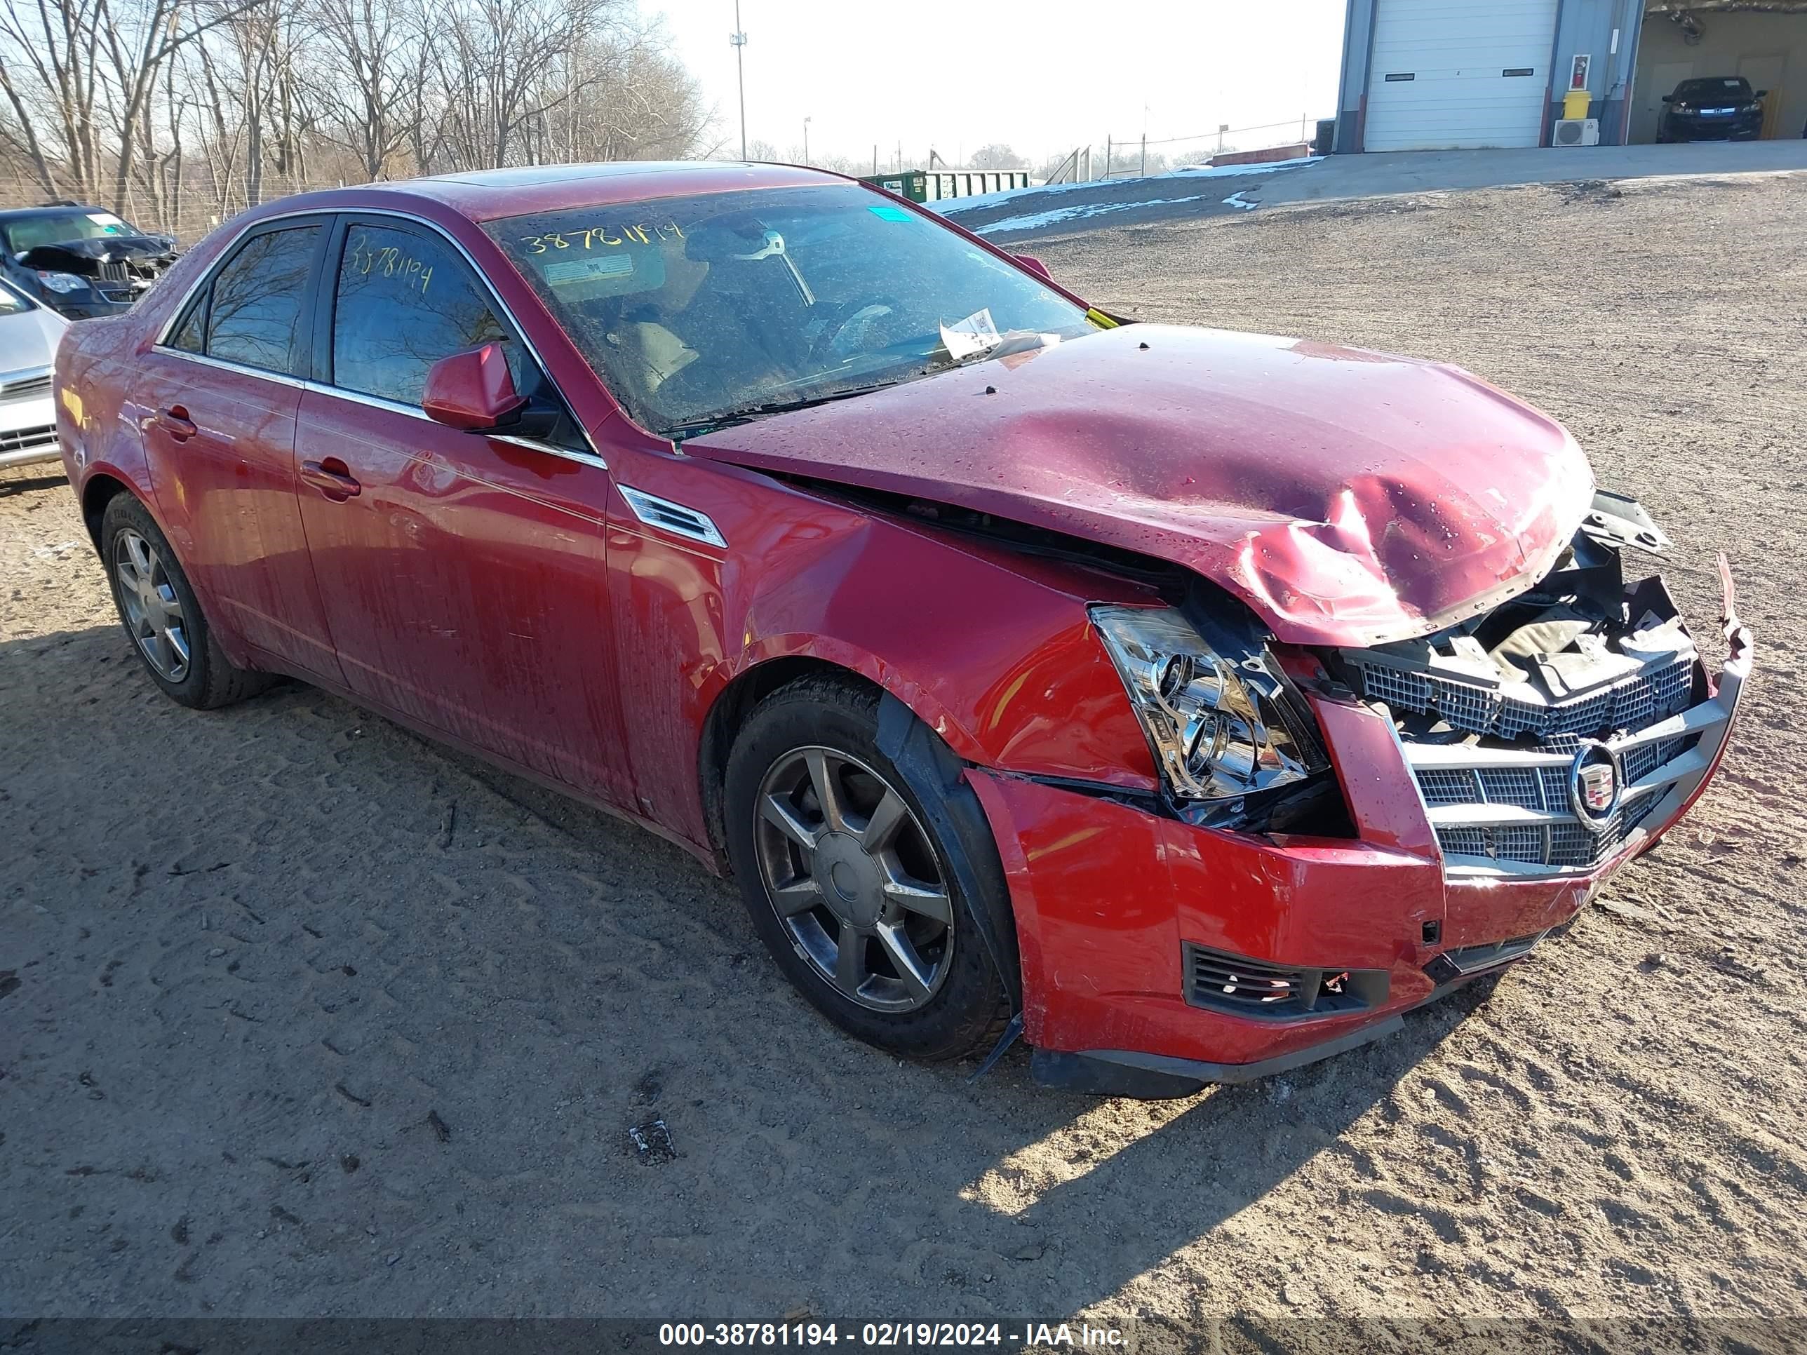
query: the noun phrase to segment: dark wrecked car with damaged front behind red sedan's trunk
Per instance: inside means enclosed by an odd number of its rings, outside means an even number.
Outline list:
[[[0,271],[70,320],[119,314],[175,262],[175,240],[105,208],[58,202],[0,211]]]

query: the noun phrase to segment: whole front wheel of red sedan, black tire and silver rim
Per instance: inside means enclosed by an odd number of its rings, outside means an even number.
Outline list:
[[[1010,997],[918,795],[878,748],[878,692],[804,678],[728,759],[728,858],[786,977],[851,1035],[907,1059],[996,1042]]]

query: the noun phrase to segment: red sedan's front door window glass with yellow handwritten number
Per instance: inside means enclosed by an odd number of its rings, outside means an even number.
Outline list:
[[[515,383],[524,361],[470,266],[445,240],[387,226],[345,231],[332,305],[332,385],[419,405],[426,369],[499,341]]]

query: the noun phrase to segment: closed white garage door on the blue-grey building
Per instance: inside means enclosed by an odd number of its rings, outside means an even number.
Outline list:
[[[1536,146],[1558,0],[1381,0],[1362,150]]]

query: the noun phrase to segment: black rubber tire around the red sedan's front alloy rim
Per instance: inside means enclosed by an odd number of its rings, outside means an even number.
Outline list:
[[[904,1059],[923,1062],[961,1059],[997,1042],[1010,1021],[1012,999],[972,920],[956,874],[994,878],[1001,873],[956,869],[954,853],[965,853],[967,847],[929,827],[936,817],[925,813],[925,800],[943,797],[943,790],[923,784],[922,777],[905,775],[880,750],[878,703],[880,694],[857,679],[811,676],[779,688],[754,710],[728,755],[725,786],[728,860],[759,939],[791,985],[822,1015],[849,1035]],[[945,887],[950,903],[947,929],[950,939],[949,950],[943,952],[945,972],[936,967],[938,986],[913,1010],[878,1012],[844,995],[811,963],[806,948],[795,939],[791,923],[779,916],[761,864],[759,806],[768,777],[804,748],[833,750],[849,762],[864,764],[853,770],[855,777],[876,773],[887,782],[885,790],[898,793],[914,817],[904,831],[920,835],[913,836],[916,847],[927,842],[936,856],[940,885]],[[880,965],[889,963],[882,950],[875,954]]]

